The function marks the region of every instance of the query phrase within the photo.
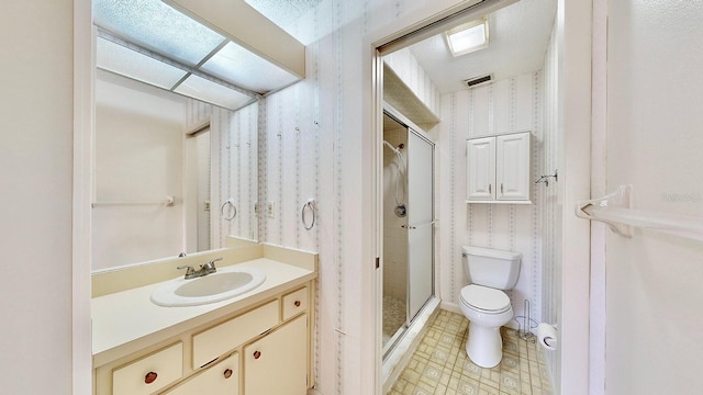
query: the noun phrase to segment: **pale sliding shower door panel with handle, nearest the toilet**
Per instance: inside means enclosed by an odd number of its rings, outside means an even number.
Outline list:
[[[433,295],[434,145],[408,133],[408,321]]]

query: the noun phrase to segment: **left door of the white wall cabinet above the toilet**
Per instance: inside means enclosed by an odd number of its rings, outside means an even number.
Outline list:
[[[467,199],[495,199],[495,137],[467,140]]]

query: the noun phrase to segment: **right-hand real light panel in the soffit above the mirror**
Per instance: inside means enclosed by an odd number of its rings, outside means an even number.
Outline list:
[[[233,42],[217,50],[200,69],[261,94],[299,80],[294,75]]]

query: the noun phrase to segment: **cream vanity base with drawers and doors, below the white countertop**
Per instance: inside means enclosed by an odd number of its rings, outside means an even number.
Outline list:
[[[96,366],[96,395],[304,395],[314,283]],[[164,346],[165,345],[165,346]]]

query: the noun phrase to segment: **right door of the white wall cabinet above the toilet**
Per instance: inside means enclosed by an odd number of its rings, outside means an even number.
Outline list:
[[[495,142],[496,200],[529,200],[529,133],[498,136]]]

